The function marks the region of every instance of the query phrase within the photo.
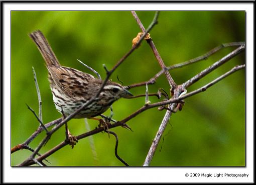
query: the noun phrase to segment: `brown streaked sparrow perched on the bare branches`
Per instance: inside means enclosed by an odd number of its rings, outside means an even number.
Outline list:
[[[59,112],[67,116],[97,93],[102,80],[77,69],[61,66],[40,30],[30,33],[30,37],[46,61],[53,101]],[[108,80],[98,99],[81,110],[74,118],[90,118],[100,115],[120,97],[131,95],[122,85]]]

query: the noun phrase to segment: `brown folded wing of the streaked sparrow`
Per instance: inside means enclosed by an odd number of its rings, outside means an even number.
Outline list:
[[[70,67],[48,65],[47,68],[53,83],[69,96],[86,95],[88,82],[96,79],[91,74]]]

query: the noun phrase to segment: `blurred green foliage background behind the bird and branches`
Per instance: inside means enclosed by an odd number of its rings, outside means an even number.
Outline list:
[[[154,11],[137,12],[147,27]],[[132,46],[140,32],[130,11],[12,11],[11,14],[11,146],[22,143],[39,123],[25,103],[38,111],[32,66],[35,67],[43,101],[43,121],[59,118],[47,80],[44,60],[28,34],[40,29],[49,40],[60,63],[90,72],[76,59],[97,70],[104,78],[102,64],[110,69]],[[179,63],[226,42],[245,40],[244,11],[163,11],[159,23],[150,32],[166,65]],[[235,47],[224,48],[207,60],[170,71],[182,83],[217,61]],[[237,64],[245,62],[245,54],[214,70],[188,88],[192,91],[213,80]],[[150,79],[160,66],[144,41],[111,76],[117,75],[124,85]],[[91,72],[90,72],[91,73]],[[149,86],[168,91],[165,76]],[[145,93],[145,87],[131,89],[133,94]],[[150,97],[151,102],[158,99]],[[113,104],[115,120],[120,120],[144,105],[145,98],[120,99]],[[245,165],[245,70],[239,70],[207,91],[187,98],[181,112],[172,115],[151,165],[154,166],[244,166]],[[127,122],[134,132],[122,127],[112,129],[119,137],[118,153],[130,165],[143,164],[165,111],[145,111]],[[109,110],[105,112],[109,115]],[[98,122],[89,120],[91,128]],[[68,122],[75,134],[86,132],[83,119]],[[45,133],[30,145],[35,148]],[[64,126],[58,130],[40,153],[48,151],[65,137]],[[114,155],[115,139],[107,133],[93,135],[100,166],[123,166]],[[12,165],[22,162],[31,152],[21,150],[11,155]],[[54,166],[93,166],[88,138],[79,140],[71,149],[66,146],[48,157]]]

